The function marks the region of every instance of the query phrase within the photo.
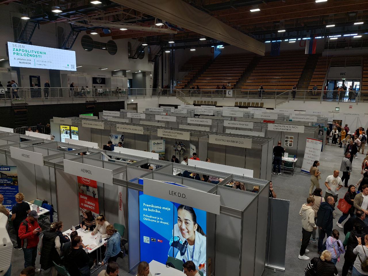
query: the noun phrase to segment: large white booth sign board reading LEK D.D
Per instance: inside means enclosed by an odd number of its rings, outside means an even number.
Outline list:
[[[220,196],[144,178],[143,193],[220,215]]]

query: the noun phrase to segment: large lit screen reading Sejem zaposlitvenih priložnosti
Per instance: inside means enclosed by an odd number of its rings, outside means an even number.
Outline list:
[[[10,66],[77,71],[75,51],[8,42]]]

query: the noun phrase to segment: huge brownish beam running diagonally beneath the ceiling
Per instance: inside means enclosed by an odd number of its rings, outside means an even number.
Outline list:
[[[181,0],[113,0],[115,3],[150,14],[201,35],[265,55],[265,44],[237,31],[220,20]]]

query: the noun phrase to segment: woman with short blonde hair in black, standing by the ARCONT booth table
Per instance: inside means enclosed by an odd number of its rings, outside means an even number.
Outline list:
[[[26,219],[28,213],[31,212],[31,208],[27,202],[23,202],[24,195],[21,192],[15,195],[15,201],[17,202],[11,209],[11,220],[13,221],[13,227],[17,236],[17,246],[15,250],[22,250],[22,241],[18,236],[18,230],[21,222]]]

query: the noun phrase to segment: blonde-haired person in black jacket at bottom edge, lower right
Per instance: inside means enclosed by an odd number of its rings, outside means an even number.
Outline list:
[[[339,276],[336,266],[331,262],[331,259],[331,252],[328,250],[323,251],[319,258],[314,257],[305,267],[305,276]]]

